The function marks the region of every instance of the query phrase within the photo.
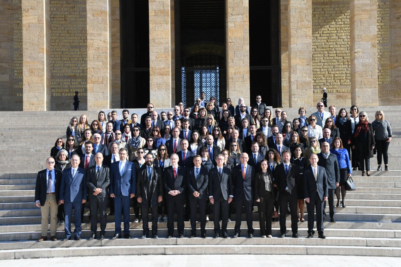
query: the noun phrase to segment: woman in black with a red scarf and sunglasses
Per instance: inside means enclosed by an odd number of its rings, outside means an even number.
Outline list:
[[[370,176],[370,160],[373,158],[373,149],[375,148],[375,137],[373,135],[372,124],[369,123],[368,115],[365,111],[359,112],[359,123],[355,125],[354,134],[352,136],[352,148],[356,148],[356,154],[362,170],[362,176],[366,174]],[[365,162],[365,166],[364,163]]]

